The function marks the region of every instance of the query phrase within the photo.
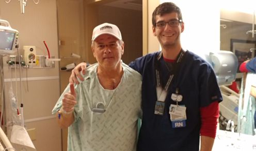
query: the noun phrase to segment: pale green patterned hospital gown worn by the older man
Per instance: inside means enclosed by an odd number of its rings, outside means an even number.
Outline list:
[[[122,63],[123,77],[114,90],[104,89],[97,76],[98,64],[87,68],[85,81],[75,85],[77,104],[69,126],[68,150],[136,150],[137,121],[141,114],[141,75]],[[60,96],[52,113],[62,105]],[[93,112],[98,102],[103,114]]]

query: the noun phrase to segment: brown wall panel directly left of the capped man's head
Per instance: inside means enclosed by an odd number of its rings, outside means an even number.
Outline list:
[[[83,1],[58,1],[58,35],[59,35],[59,57],[60,67],[68,64],[78,64],[87,61],[87,50],[84,43],[84,8]],[[73,58],[71,53],[81,56]],[[60,91],[62,92],[69,80],[71,72],[62,70],[60,72]]]

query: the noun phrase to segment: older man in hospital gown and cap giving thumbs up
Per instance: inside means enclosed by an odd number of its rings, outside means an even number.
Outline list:
[[[124,43],[116,25],[94,28],[84,81],[70,83],[56,103],[60,127],[69,127],[68,150],[136,150],[141,75],[121,61]]]

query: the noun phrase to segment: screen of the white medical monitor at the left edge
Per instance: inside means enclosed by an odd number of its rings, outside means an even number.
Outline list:
[[[0,31],[0,49],[12,50],[14,37],[15,33],[13,32]]]

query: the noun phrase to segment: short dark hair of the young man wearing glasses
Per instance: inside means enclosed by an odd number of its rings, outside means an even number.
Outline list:
[[[162,4],[158,5],[155,8],[154,12],[152,13],[152,25],[155,27],[155,24],[156,24],[155,17],[156,17],[156,15],[162,16],[164,14],[172,13],[172,12],[177,12],[179,20],[182,20],[181,10],[174,3],[166,2],[166,3],[162,3]]]

